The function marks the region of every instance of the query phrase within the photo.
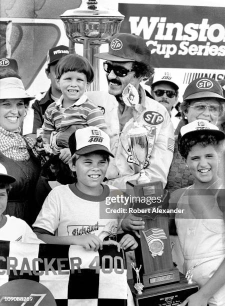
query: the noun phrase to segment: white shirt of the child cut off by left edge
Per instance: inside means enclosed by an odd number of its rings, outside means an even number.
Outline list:
[[[22,219],[5,215],[6,223],[0,227],[0,240],[44,243],[37,238],[29,225]]]

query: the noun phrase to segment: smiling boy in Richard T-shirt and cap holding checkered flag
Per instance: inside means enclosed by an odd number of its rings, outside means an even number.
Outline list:
[[[107,214],[105,198],[121,194],[120,190],[101,184],[108,167],[109,136],[97,127],[77,129],[69,137],[72,157],[69,167],[77,181],[50,191],[33,224],[38,238],[46,243],[81,245],[87,250],[102,248],[103,240],[116,235],[118,214]],[[111,240],[112,241],[112,240]],[[109,241],[103,243],[109,244]],[[118,248],[134,249],[137,242],[125,234]]]

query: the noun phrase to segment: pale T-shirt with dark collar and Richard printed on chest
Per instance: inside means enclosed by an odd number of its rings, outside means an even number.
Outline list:
[[[57,236],[92,233],[103,240],[108,235],[115,235],[122,215],[107,213],[111,204],[105,199],[121,195],[121,191],[108,185],[102,187],[99,196],[87,195],[75,184],[55,187],[46,197],[32,226]]]

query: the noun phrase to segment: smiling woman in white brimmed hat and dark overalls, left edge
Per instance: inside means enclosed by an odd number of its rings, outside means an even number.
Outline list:
[[[36,217],[33,194],[40,162],[32,150],[34,140],[21,136],[20,126],[25,106],[32,98],[16,72],[8,69],[6,74],[0,73],[0,163],[16,178],[5,213],[24,219],[28,224]]]

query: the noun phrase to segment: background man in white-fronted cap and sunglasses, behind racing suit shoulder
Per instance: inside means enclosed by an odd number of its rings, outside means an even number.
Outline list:
[[[155,72],[151,84],[153,97],[167,109],[174,129],[179,123],[175,105],[178,102],[178,85],[170,72]]]

